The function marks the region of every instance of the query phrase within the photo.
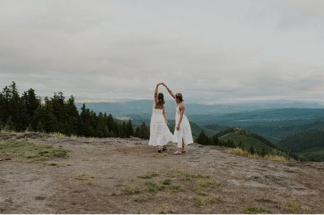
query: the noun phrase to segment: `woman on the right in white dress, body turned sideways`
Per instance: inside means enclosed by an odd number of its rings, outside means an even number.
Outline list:
[[[171,89],[166,86],[166,84],[162,83],[164,87],[169,91],[169,94],[175,99],[175,132],[173,134],[174,141],[177,143],[177,152],[173,154],[182,154],[186,152],[185,145],[193,143],[192,133],[189,124],[189,120],[184,115],[184,111],[186,110],[186,106],[184,105],[184,99],[182,94],[173,94]]]

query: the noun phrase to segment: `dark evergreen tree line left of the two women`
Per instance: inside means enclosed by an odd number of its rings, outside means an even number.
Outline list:
[[[42,100],[34,89],[19,94],[16,83],[5,86],[0,93],[0,128],[23,132],[60,132],[82,137],[139,137],[149,139],[149,126],[136,126],[132,120],[121,121],[111,114],[95,113],[82,105],[75,106],[75,98],[66,99],[62,92]]]

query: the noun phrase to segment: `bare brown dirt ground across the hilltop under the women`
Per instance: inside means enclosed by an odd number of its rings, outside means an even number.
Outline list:
[[[245,158],[227,154],[225,147],[198,144],[189,145],[186,154],[173,155],[175,145],[159,154],[136,138],[27,139],[68,149],[68,158],[38,164],[0,154],[1,214],[324,212],[323,162]],[[155,172],[151,178],[138,177],[150,171]],[[197,187],[199,176],[184,179],[179,173],[209,175],[216,186]],[[179,189],[125,192],[166,179]]]

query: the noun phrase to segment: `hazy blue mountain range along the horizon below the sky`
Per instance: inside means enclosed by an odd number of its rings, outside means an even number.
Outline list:
[[[77,102],[77,107],[81,109],[82,103]],[[152,100],[116,100],[115,102],[90,102],[86,103],[89,109],[96,113],[111,113],[115,116],[134,115],[151,113],[153,107]],[[322,109],[324,106],[316,102],[296,102],[290,100],[244,102],[239,104],[199,104],[194,102],[186,103],[186,115],[214,114],[223,115],[227,113],[238,113],[241,111],[254,111],[257,109]],[[166,100],[166,113],[175,115],[174,100]],[[210,123],[209,123],[210,124]]]

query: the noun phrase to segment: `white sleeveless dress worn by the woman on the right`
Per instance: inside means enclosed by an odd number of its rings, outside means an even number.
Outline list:
[[[177,130],[177,124],[180,119],[180,110],[179,106],[175,106],[175,133],[174,133],[174,141],[177,143],[177,147],[181,148],[182,147],[182,139],[184,139],[184,144],[188,145],[190,143],[193,143],[192,140],[192,134],[191,134],[191,128],[189,124],[188,118],[183,115],[182,116],[182,121],[180,124],[180,130]]]

